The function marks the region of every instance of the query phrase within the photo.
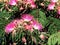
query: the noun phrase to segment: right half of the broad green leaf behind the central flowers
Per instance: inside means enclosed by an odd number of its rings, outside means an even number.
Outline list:
[[[46,18],[46,15],[44,12],[42,11],[39,11],[39,18],[38,18],[38,21],[42,23],[42,25],[45,27],[48,25],[48,20]]]

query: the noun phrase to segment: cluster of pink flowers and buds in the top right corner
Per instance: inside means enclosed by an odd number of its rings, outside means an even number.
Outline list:
[[[57,10],[57,18],[60,18],[60,2],[58,0],[50,0],[50,4],[48,5],[48,10],[54,10],[54,7],[56,7]]]

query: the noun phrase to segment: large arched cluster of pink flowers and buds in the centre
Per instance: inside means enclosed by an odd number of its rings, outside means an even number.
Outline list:
[[[43,26],[41,23],[38,23],[34,19],[34,17],[30,14],[23,14],[21,15],[21,19],[15,19],[12,22],[10,22],[6,27],[5,27],[5,32],[7,34],[11,33],[12,31],[15,30],[15,28],[24,28],[30,32],[33,32],[34,29],[42,31]]]

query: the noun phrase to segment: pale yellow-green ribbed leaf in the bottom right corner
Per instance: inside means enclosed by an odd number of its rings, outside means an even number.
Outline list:
[[[48,45],[60,45],[60,32],[50,36],[48,39]]]

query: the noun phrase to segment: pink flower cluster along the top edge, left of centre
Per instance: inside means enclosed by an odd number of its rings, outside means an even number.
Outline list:
[[[23,5],[29,6],[31,8],[36,8],[36,4],[34,0],[10,0],[9,5],[17,5],[17,3],[20,2]]]

